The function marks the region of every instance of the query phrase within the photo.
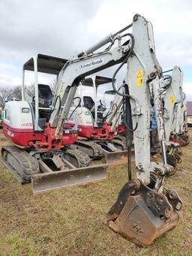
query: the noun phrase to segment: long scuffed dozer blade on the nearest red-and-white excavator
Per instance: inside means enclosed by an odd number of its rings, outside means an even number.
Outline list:
[[[33,193],[64,188],[71,185],[87,185],[107,179],[107,164],[82,167],[71,170],[60,170],[52,173],[40,173],[32,176]]]

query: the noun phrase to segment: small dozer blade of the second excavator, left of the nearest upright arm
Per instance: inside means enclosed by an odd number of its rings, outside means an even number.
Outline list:
[[[107,153],[105,161],[109,165],[127,164],[127,150]]]

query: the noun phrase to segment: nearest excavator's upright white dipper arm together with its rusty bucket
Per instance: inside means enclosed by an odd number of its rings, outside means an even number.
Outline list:
[[[127,127],[127,134],[133,134],[136,179],[129,176],[129,182],[121,188],[105,223],[139,245],[149,245],[178,223],[181,200],[175,191],[164,188],[166,174],[172,171],[172,167],[166,164],[160,95],[162,71],[155,56],[152,26],[140,16],[133,17],[133,24],[135,44],[133,54],[127,59],[125,83],[128,92],[124,96],[130,104],[129,115],[133,122],[132,127]],[[154,99],[156,110],[158,138],[163,155],[161,163],[150,161],[150,98]],[[131,173],[130,164],[128,169],[128,173]]]

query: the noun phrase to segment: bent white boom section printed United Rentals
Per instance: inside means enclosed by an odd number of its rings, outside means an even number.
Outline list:
[[[114,40],[119,41],[120,39],[114,38]],[[122,62],[129,50],[129,45],[120,45],[113,50],[71,59],[71,61],[66,63],[59,74],[55,93],[55,108],[49,119],[50,126],[56,128],[55,137],[59,137],[63,122],[68,119],[71,102],[73,101],[80,81],[87,75],[94,74]]]

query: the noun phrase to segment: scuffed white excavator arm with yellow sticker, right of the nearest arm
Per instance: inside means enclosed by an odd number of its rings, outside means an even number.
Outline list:
[[[188,143],[185,124],[184,93],[182,90],[183,72],[175,66],[172,74],[160,80],[165,120],[167,162],[173,167],[181,162],[181,146]],[[182,138],[183,136],[183,138]]]

